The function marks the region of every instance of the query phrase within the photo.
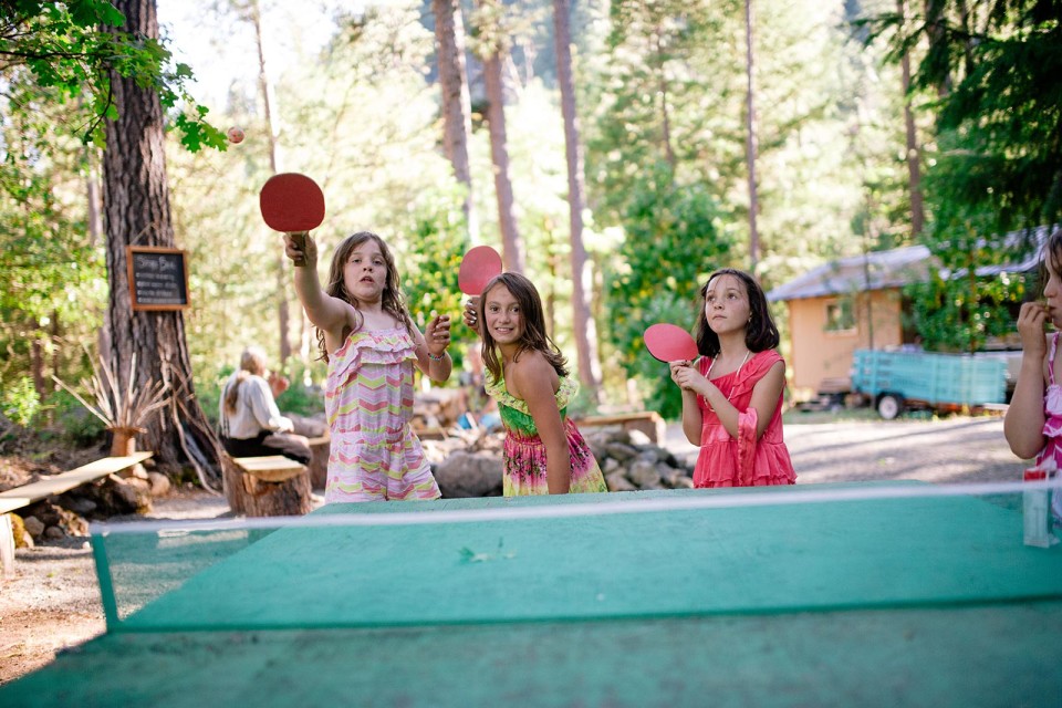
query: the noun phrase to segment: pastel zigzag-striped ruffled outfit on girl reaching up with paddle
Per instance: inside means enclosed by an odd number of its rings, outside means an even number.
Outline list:
[[[441,496],[409,427],[415,351],[406,329],[395,327],[353,332],[329,357],[325,503]]]

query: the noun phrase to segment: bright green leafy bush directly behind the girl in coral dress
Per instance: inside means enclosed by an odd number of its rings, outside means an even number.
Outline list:
[[[715,200],[699,185],[676,185],[671,178],[665,165],[645,170],[625,215],[622,266],[607,281],[608,339],[621,365],[645,383],[646,406],[666,417],[681,413],[681,397],[642,334],[656,322],[693,330],[701,279],[731,263]]]

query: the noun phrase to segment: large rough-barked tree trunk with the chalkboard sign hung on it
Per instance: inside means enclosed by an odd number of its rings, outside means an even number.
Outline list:
[[[126,18],[125,31],[158,38],[154,0],[118,0],[115,7]],[[133,79],[112,71],[110,81],[118,115],[106,123],[103,154],[111,331],[101,337],[106,347],[101,356],[117,364],[119,388],[128,386],[135,352],[134,385],[163,381],[174,394],[171,409],[143,421],[144,447],[155,451],[155,460],[176,466],[189,459],[205,485],[220,487],[221,448],[195,397],[184,315],[179,310],[134,312],[129,296],[125,247],[174,246],[162,105],[156,93]],[[189,448],[196,452],[189,454]]]

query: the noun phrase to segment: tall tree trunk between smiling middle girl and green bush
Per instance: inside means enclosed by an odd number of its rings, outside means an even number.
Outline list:
[[[590,313],[591,268],[583,246],[583,150],[579,142],[575,82],[572,77],[572,39],[569,0],[553,0],[553,35],[556,43],[556,80],[564,117],[564,155],[568,162],[568,208],[572,243],[572,334],[579,356],[579,379],[591,399],[600,399],[601,365],[597,361],[597,327]]]

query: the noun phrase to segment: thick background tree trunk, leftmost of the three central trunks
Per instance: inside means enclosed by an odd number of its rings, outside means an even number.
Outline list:
[[[465,70],[465,25],[458,0],[431,0],[435,13],[435,52],[442,90],[442,148],[454,166],[454,176],[465,185],[465,223],[471,242],[479,240],[479,220],[472,198],[468,139],[472,133],[472,107]]]

